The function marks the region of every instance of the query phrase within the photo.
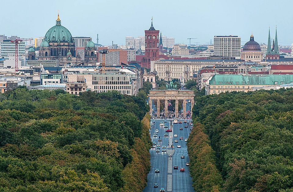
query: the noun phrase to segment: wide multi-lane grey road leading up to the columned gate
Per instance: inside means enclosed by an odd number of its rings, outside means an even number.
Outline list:
[[[169,185],[169,189],[172,187],[172,191],[179,191],[179,192],[194,192],[194,189],[192,187],[192,178],[189,173],[189,166],[186,166],[186,162],[189,162],[189,157],[187,154],[187,146],[186,141],[184,141],[186,138],[188,138],[190,134],[190,120],[187,120],[187,123],[183,123],[183,119],[178,119],[178,121],[182,121],[182,124],[174,124],[172,121],[173,129],[172,133],[168,133],[167,137],[164,137],[165,131],[167,128],[164,128],[164,126],[160,126],[160,122],[166,121],[165,125],[168,126],[168,129],[170,128],[170,120],[162,120],[162,119],[152,119],[151,122],[154,122],[151,131],[150,136],[152,142],[155,141],[157,144],[160,143],[160,152],[156,152],[156,148],[150,149],[150,164],[151,169],[147,176],[147,186],[143,190],[143,192],[158,192],[160,191],[161,187],[165,188],[165,191],[171,191],[167,190],[167,182]],[[184,126],[188,125],[188,128],[185,128]],[[183,130],[179,130],[180,127],[183,127]],[[158,129],[159,132],[157,133],[157,137],[154,137],[154,131]],[[174,135],[177,134],[178,137],[174,137]],[[162,139],[162,141],[158,141],[158,138]],[[183,140],[180,140],[179,138],[183,137]],[[178,143],[175,142],[175,139],[178,139]],[[166,145],[167,150],[172,150],[171,145],[175,146],[173,148],[174,151],[170,151],[171,153],[174,152],[172,155],[172,160],[169,160],[168,165],[168,159],[170,159],[170,156],[168,156],[167,152],[162,152],[162,145]],[[177,148],[177,145],[181,145],[181,148]],[[170,148],[168,148],[170,147]],[[168,152],[170,154],[170,152]],[[181,155],[184,155],[185,158],[181,158]],[[171,165],[172,164],[172,165]],[[173,169],[173,166],[177,165],[177,169]],[[172,173],[168,173],[168,166],[172,167]],[[180,168],[184,168],[185,172],[180,172]],[[159,173],[155,173],[155,169],[159,169]],[[170,169],[170,168],[169,168]],[[172,181],[170,181],[172,175]],[[169,180],[168,180],[169,178]],[[158,183],[159,187],[154,188],[154,183]],[[171,186],[170,186],[171,185]]]

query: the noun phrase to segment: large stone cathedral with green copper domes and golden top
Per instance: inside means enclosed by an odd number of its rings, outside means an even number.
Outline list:
[[[56,25],[51,27],[45,34],[45,38],[40,45],[39,60],[58,60],[59,65],[67,64],[92,64],[97,62],[95,44],[89,41],[85,47],[85,61],[81,57],[75,57],[75,45],[70,31],[61,25],[59,14]]]

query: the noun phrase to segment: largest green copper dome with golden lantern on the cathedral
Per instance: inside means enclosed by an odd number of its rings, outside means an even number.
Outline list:
[[[45,34],[45,41],[48,43],[73,43],[71,33],[68,29],[61,25],[59,14],[57,16],[56,25],[51,27]]]

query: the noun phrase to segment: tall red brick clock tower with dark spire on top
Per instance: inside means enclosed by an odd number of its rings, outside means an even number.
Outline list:
[[[152,24],[149,30],[145,30],[146,50],[141,59],[141,67],[150,69],[150,62],[159,59],[159,30],[155,30]]]

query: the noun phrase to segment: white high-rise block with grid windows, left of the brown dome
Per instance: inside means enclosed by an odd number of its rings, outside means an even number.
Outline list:
[[[214,36],[214,53],[222,57],[241,58],[241,38],[238,36]]]

